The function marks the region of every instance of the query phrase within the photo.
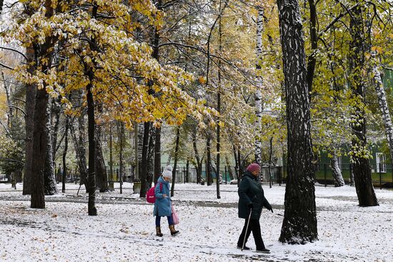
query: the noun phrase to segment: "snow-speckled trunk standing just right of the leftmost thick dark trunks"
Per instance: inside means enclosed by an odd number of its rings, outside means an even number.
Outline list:
[[[56,186],[56,176],[54,172],[54,157],[51,141],[51,103],[49,103],[49,106],[46,108],[46,114],[49,117],[46,121],[46,133],[48,134],[48,139],[46,143],[44,193],[45,196],[51,196],[58,193]]]

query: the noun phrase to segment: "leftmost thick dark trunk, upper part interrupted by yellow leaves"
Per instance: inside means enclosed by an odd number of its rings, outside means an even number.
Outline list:
[[[34,61],[34,49],[26,49],[27,64]],[[27,69],[29,74],[33,74],[34,69],[30,67]],[[34,106],[36,103],[36,85],[26,84],[26,104],[24,116],[25,130],[26,130],[26,149],[25,149],[25,164],[24,164],[24,178],[23,178],[23,194],[31,194],[31,166],[33,158],[33,131],[34,131]]]

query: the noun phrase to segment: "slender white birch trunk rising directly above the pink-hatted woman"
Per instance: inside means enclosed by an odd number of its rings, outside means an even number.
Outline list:
[[[262,32],[264,30],[264,9],[261,6],[258,7],[258,18],[257,18],[257,90],[255,91],[255,114],[257,115],[257,120],[255,121],[255,162],[261,164],[262,162],[262,142],[261,142],[261,132],[262,132],[262,71],[261,71],[261,61],[262,61]]]

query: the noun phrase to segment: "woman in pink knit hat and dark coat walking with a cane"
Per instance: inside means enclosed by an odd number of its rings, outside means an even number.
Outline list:
[[[252,231],[254,236],[255,246],[259,253],[270,253],[269,249],[264,246],[264,241],[261,235],[261,226],[259,225],[259,218],[261,217],[262,207],[272,211],[269,201],[264,197],[264,190],[262,184],[258,179],[261,167],[257,163],[252,163],[247,166],[247,171],[242,176],[242,181],[239,184],[239,218],[244,219],[244,227],[242,233],[237,241],[237,248],[250,250],[245,246],[247,239]]]

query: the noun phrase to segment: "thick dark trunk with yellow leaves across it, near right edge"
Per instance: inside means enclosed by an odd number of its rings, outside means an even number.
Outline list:
[[[352,41],[349,43],[351,52],[349,53],[349,71],[351,72],[350,87],[354,99],[359,100],[353,109],[354,119],[351,124],[352,128],[352,162],[354,170],[354,181],[359,200],[359,206],[378,206],[377,196],[375,196],[374,187],[372,186],[371,167],[369,159],[364,157],[367,154],[366,138],[366,117],[364,111],[365,87],[362,78],[364,69],[364,52],[366,41],[364,37],[364,26],[362,19],[362,4],[352,11],[349,31],[352,35]]]

